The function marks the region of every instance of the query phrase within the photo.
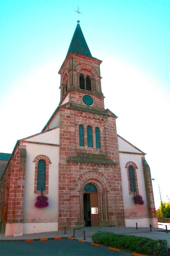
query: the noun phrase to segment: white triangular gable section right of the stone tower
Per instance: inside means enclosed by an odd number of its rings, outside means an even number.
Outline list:
[[[129,141],[122,138],[120,135],[117,134],[118,138],[118,149],[121,153],[136,153],[136,154],[142,154],[145,155],[143,151],[136,148],[133,144],[131,144]]]

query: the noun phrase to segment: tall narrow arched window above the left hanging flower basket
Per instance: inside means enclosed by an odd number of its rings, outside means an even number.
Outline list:
[[[38,176],[37,176],[37,190],[45,190],[46,180],[46,163],[44,160],[38,161]]]

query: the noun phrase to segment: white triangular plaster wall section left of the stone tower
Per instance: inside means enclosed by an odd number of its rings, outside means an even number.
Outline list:
[[[60,145],[60,127],[42,134],[35,135],[34,137],[26,140]]]

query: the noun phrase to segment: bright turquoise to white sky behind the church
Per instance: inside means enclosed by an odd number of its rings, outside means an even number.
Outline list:
[[[79,19],[92,56],[103,61],[117,133],[146,153],[156,209],[159,188],[168,201],[170,0],[1,0],[0,17],[0,152],[39,133],[58,106],[58,71]]]

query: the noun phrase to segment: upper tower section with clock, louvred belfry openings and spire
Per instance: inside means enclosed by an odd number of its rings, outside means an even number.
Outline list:
[[[59,105],[68,102],[81,108],[104,109],[100,76],[102,61],[92,57],[79,22],[58,72],[61,75]]]

